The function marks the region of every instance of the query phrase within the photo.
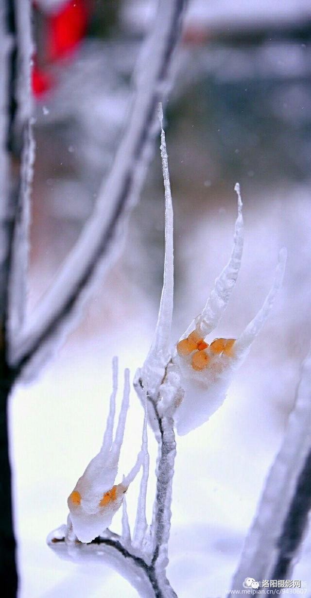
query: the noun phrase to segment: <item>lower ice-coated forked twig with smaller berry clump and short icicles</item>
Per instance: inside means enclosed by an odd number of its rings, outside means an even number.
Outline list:
[[[128,475],[123,476],[121,484],[112,486],[105,492],[104,486],[114,483],[117,473],[119,441],[123,438],[124,425],[129,396],[129,378],[125,372],[123,401],[121,404],[115,440],[112,441],[112,428],[115,412],[115,394],[117,392],[117,361],[113,361],[113,389],[107,419],[103,445],[89,463],[83,476],[68,499],[70,515],[68,525],[54,530],[47,539],[48,545],[59,556],[79,560],[105,560],[116,566],[117,570],[129,579],[140,595],[155,598],[176,598],[176,594],[166,578],[167,541],[170,529],[170,501],[172,496],[173,461],[175,458],[175,439],[172,418],[158,416],[159,453],[157,463],[157,493],[153,514],[151,535],[147,535],[146,496],[149,472],[149,454],[147,447],[147,410],[145,409],[142,428],[142,445],[135,465]],[[110,441],[109,441],[110,439]],[[133,541],[130,534],[124,493],[139,469],[143,466],[141,487]],[[121,492],[119,492],[121,489]],[[104,491],[104,493],[103,493]],[[101,497],[101,498],[100,498]],[[120,498],[121,497],[121,498]],[[123,501],[122,534],[111,532],[107,525]],[[100,535],[98,535],[100,533]],[[98,547],[100,546],[100,550]],[[105,550],[103,550],[103,548]]]

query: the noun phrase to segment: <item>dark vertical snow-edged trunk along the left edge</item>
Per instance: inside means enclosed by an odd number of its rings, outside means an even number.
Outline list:
[[[23,15],[22,15],[23,13]],[[13,266],[14,230],[20,217],[20,176],[25,152],[23,124],[29,111],[29,86],[23,78],[28,56],[24,41],[30,32],[30,2],[6,0],[0,6],[0,579],[7,598],[16,596],[16,542],[11,501],[8,442],[8,398],[14,373],[7,361],[9,280]],[[25,21],[23,19],[25,17]],[[29,29],[28,29],[29,26]],[[30,33],[29,33],[30,35]],[[27,42],[26,42],[27,45]],[[23,58],[22,58],[23,57]],[[29,68],[29,66],[28,66]],[[20,127],[20,125],[22,125]]]

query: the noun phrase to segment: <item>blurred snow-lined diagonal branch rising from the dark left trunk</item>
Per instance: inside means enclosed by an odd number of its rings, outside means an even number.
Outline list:
[[[155,112],[167,89],[185,0],[159,0],[155,25],[136,70],[137,92],[129,126],[93,215],[31,321],[10,338],[10,364],[20,371],[42,347],[58,339],[72,312],[83,304],[94,275],[102,274],[121,243],[130,210],[141,190],[150,141],[157,131]],[[51,345],[51,346],[50,346]]]

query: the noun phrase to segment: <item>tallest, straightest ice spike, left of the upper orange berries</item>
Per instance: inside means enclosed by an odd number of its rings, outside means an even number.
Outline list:
[[[173,206],[170,191],[169,164],[166,151],[165,133],[163,130],[163,109],[158,105],[158,118],[161,123],[161,160],[165,196],[165,253],[163,288],[161,292],[158,321],[155,327],[154,340],[141,370],[142,379],[147,388],[155,389],[163,378],[164,368],[169,361],[170,330],[173,313]]]

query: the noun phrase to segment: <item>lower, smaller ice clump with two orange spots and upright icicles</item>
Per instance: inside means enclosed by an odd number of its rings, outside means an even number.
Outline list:
[[[122,504],[124,493],[141,468],[144,456],[142,450],[129,474],[123,477],[120,484],[114,485],[129,408],[130,383],[129,370],[125,370],[123,400],[115,438],[112,440],[117,394],[117,358],[112,362],[112,371],[113,390],[102,447],[90,461],[68,498],[70,521],[75,535],[81,542],[91,542],[109,526]]]

